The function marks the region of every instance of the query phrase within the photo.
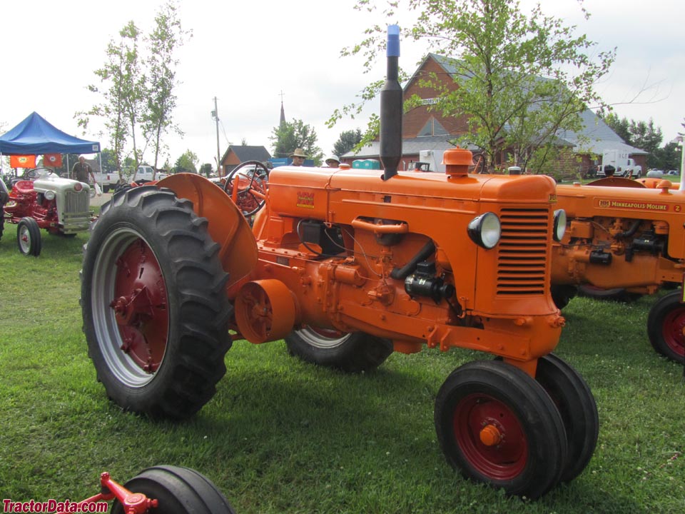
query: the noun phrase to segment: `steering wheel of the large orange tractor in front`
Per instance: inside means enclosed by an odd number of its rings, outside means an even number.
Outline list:
[[[248,217],[257,213],[266,202],[269,169],[261,161],[245,161],[228,173],[223,190]]]

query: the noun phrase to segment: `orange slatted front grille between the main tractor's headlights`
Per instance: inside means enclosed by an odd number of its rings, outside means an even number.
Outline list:
[[[546,208],[505,208],[499,214],[502,238],[497,253],[497,294],[545,292],[549,238]]]

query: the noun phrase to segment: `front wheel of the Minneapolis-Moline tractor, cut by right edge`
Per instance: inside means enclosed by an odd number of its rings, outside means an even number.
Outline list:
[[[671,361],[685,363],[685,303],[681,303],[683,291],[671,291],[649,310],[647,335],[658,353]]]

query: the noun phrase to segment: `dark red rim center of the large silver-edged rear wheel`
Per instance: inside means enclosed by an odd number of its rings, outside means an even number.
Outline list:
[[[121,351],[143,371],[157,371],[168,338],[166,287],[157,258],[142,239],[131,243],[116,261],[110,306],[123,341]]]

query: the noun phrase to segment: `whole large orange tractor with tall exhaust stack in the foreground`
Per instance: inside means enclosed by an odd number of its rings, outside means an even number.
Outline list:
[[[551,353],[564,324],[552,240],[566,226],[554,181],[469,175],[460,148],[446,173],[398,173],[397,26],[387,52],[382,174],[283,166],[268,188],[235,173],[229,194],[181,174],[103,206],[81,273],[89,354],[123,408],[186,418],[215,393],[232,338],[285,338],[350,372],[425,345],[491,353],[440,388],[437,438],[467,478],[537,498],[584,470],[599,425],[587,384]],[[252,227],[231,196],[262,206]]]

